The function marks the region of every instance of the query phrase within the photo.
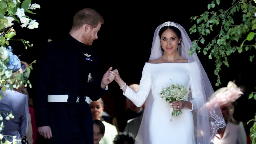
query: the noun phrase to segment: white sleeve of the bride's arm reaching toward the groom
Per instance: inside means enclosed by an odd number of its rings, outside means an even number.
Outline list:
[[[151,88],[150,66],[147,63],[143,67],[142,77],[140,80],[140,86],[138,92],[134,92],[129,86],[127,86],[125,93],[123,93],[128,99],[130,99],[137,107],[144,104]]]

